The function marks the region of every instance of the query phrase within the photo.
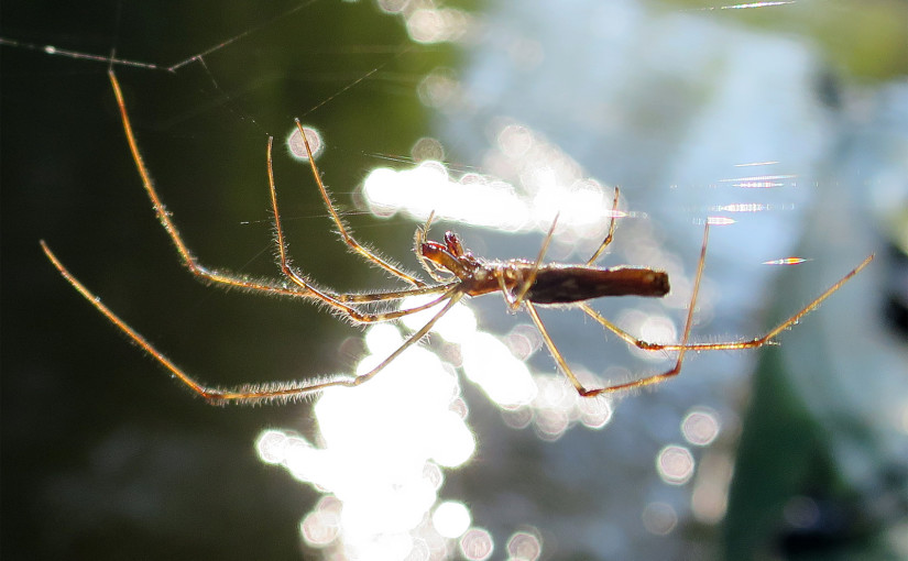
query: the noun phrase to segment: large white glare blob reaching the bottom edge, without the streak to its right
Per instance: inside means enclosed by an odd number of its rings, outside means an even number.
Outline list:
[[[392,324],[369,329],[370,354],[358,373],[402,342]],[[368,384],[322,394],[315,405],[318,447],[291,431],[262,432],[263,461],[330,494],[300,524],[306,543],[346,559],[415,559],[419,551],[428,559],[459,537],[470,519],[462,504],[437,507],[433,524],[426,518],[444,480],[438,466],[461,465],[475,450],[459,395],[452,369],[414,346]]]

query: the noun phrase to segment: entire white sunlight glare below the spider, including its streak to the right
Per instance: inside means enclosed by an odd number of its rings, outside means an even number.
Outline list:
[[[402,305],[424,302],[412,298]],[[412,315],[402,323],[416,330],[433,314]],[[317,446],[288,430],[259,436],[263,462],[282,465],[325,493],[300,521],[307,546],[342,559],[446,559],[456,547],[452,540],[459,539],[466,558],[489,558],[492,537],[481,528],[470,529],[468,506],[438,504],[442,469],[464,464],[477,448],[450,363],[462,367],[506,414],[525,419],[512,426],[532,425],[546,440],[559,438],[573,424],[601,428],[611,418],[608,400],[580,398],[562,376],[530,373],[524,360],[538,344],[519,326],[505,339],[523,341],[515,346],[519,359],[502,339],[477,329],[468,306],[456,306],[435,328],[434,344],[407,349],[368,383],[324,392],[314,406]],[[405,337],[393,323],[369,328],[363,336],[368,354],[355,374],[374,369]],[[517,542],[521,551],[540,550],[530,534],[512,539],[510,549]]]

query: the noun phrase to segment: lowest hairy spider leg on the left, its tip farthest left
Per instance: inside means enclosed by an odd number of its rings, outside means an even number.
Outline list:
[[[154,360],[161,363],[174,377],[176,377],[180,383],[187,386],[189,389],[201,396],[206,402],[211,405],[223,405],[227,403],[236,403],[236,404],[259,404],[265,402],[288,402],[293,399],[299,399],[303,397],[311,396],[322,389],[333,386],[358,386],[363,382],[375,376],[382,369],[387,366],[394,359],[401,355],[405,350],[409,346],[414,345],[418,342],[423,337],[425,337],[435,323],[441,319],[445,314],[447,314],[455,304],[458,302],[463,297],[463,292],[461,292],[459,286],[455,286],[450,290],[448,290],[442,298],[439,298],[433,304],[438,304],[439,301],[447,299],[447,304],[435,315],[433,318],[427,321],[418,331],[414,332],[406,341],[404,341],[401,346],[397,348],[393,353],[391,353],[384,361],[382,361],[378,366],[372,369],[371,371],[367,372],[365,374],[361,374],[355,377],[337,377],[330,380],[321,380],[316,382],[281,382],[281,383],[265,383],[265,384],[245,384],[234,388],[217,388],[212,386],[206,386],[194,377],[189,376],[185,371],[183,371],[179,366],[174,364],[164,353],[155,349],[141,333],[132,329],[125,321],[120,319],[119,316],[113,314],[105,304],[101,302],[101,299],[95,296],[85,285],[83,285],[63,265],[63,263],[54,255],[51,249],[47,246],[44,241],[41,241],[41,249],[44,250],[45,255],[51,261],[51,263],[56,267],[61,275],[76,289],[79,294],[85,297],[95,308],[100,311],[111,323],[117,326],[123,333],[125,333],[130,339],[132,339],[135,344],[141,346],[146,353],[152,355]],[[408,312],[417,311],[418,309],[425,309],[425,307],[414,308],[413,310],[408,310]],[[403,314],[406,315],[406,314]]]

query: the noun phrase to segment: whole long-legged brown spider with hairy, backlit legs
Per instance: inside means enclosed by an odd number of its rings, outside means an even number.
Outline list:
[[[296,121],[306,151],[309,156],[309,165],[311,167],[313,176],[316,185],[318,185],[321,198],[325,201],[331,220],[337,227],[344,243],[355,253],[368,260],[369,263],[385,270],[393,276],[400,277],[404,282],[412,285],[411,288],[392,292],[376,292],[365,294],[338,294],[331,290],[321,288],[309,280],[305,275],[297,272],[289,263],[287,256],[287,243],[284,239],[284,230],[281,223],[281,213],[277,209],[277,191],[274,184],[274,174],[272,169],[272,144],[273,139],[269,139],[267,143],[267,180],[271,191],[271,205],[274,212],[274,230],[275,243],[278,250],[278,261],[282,273],[289,280],[289,284],[277,283],[269,279],[251,279],[242,275],[219,272],[211,270],[199,263],[199,261],[192,254],[182,235],[176,229],[169,212],[157,195],[157,191],[152,184],[147,168],[142,161],[142,155],[135,142],[135,136],[132,132],[129,114],[127,112],[123,95],[120,90],[120,85],[113,72],[109,73],[110,82],[113,87],[113,94],[117,98],[117,105],[120,109],[120,117],[123,123],[123,130],[127,135],[127,142],[132,151],[132,157],[135,161],[135,166],[139,169],[139,175],[142,178],[142,185],[151,199],[155,215],[158,221],[164,227],[164,230],[169,235],[171,241],[176,246],[179,258],[189,272],[197,278],[222,285],[226,287],[243,288],[250,292],[259,292],[266,294],[276,294],[292,298],[305,298],[317,300],[318,302],[328,306],[340,315],[346,315],[350,320],[358,323],[373,323],[378,321],[390,321],[416,314],[437,305],[441,305],[440,309],[435,311],[435,315],[426,321],[426,323],[413,332],[404,342],[392,352],[385,360],[379,363],[378,366],[371,371],[348,377],[335,377],[329,380],[317,380],[315,382],[270,382],[263,384],[245,384],[233,388],[218,388],[207,386],[193,376],[189,376],[179,366],[174,364],[166,355],[155,349],[144,337],[127,324],[113,311],[105,306],[101,300],[96,297],[88,288],[85,287],[72,273],[61,263],[54,255],[47,244],[42,240],[41,246],[44,253],[59,271],[63,277],[73,285],[95,308],[107,317],[113,324],[120,328],[127,336],[129,336],[136,344],[144,349],[149,354],[154,356],[164,367],[166,367],[174,376],[176,376],[183,384],[188,386],[193,392],[200,395],[208,403],[225,404],[225,403],[243,403],[253,404],[270,400],[291,400],[304,396],[311,395],[328,387],[333,386],[358,386],[382,371],[389,363],[401,355],[409,346],[423,339],[458,301],[464,296],[480,296],[483,294],[501,292],[507,306],[517,310],[525,308],[529,314],[530,319],[538,328],[545,340],[551,355],[555,358],[560,370],[570,380],[577,392],[584,397],[597,396],[622,389],[643,387],[664,382],[677,375],[681,371],[685,354],[688,351],[712,351],[712,350],[740,350],[754,349],[765,344],[774,343],[773,338],[781,331],[788,329],[798,322],[805,315],[817,308],[823,300],[829,298],[833,293],[839,290],[849,279],[856,275],[861,270],[869,264],[873,255],[865,258],[860,265],[850,271],[840,280],[829,287],[813,301],[805,306],[801,310],[769,330],[762,337],[757,337],[745,341],[731,341],[721,343],[690,343],[689,336],[691,323],[693,319],[693,309],[697,304],[697,295],[700,288],[700,280],[703,275],[703,264],[707,255],[707,244],[709,238],[709,221],[703,230],[703,243],[700,250],[700,258],[697,265],[697,274],[693,282],[693,292],[688,307],[687,319],[681,334],[681,341],[677,344],[658,344],[650,343],[637,339],[628,332],[622,330],[608,319],[603,318],[595,310],[590,308],[586,300],[599,298],[602,296],[648,296],[661,297],[668,294],[669,284],[668,275],[660,271],[650,268],[617,266],[604,268],[593,265],[597,258],[602,254],[604,249],[611,243],[615,231],[615,216],[619,201],[619,190],[615,189],[613,211],[609,224],[609,233],[602,243],[599,245],[593,255],[584,263],[578,265],[564,264],[543,264],[543,258],[551,240],[555,226],[545,238],[539,255],[535,261],[526,260],[511,260],[505,262],[485,261],[472,255],[469,251],[463,249],[460,239],[452,232],[445,234],[444,243],[428,241],[427,231],[431,217],[427,223],[418,228],[415,234],[414,252],[423,268],[429,276],[436,280],[435,285],[427,285],[419,280],[416,276],[406,273],[396,265],[376,255],[371,250],[361,245],[353,238],[348,228],[343,224],[340,216],[335,209],[331,197],[328,194],[325,184],[321,182],[318,167],[315,164],[315,157],[309,145],[308,139],[303,131],[299,121]],[[369,312],[363,311],[363,307],[374,305],[376,302],[391,302],[402,300],[411,296],[426,296],[438,295],[427,304],[415,306],[413,308]],[[580,381],[571,372],[570,366],[565,361],[555,342],[551,340],[548,331],[543,324],[536,306],[547,305],[576,305],[584,314],[598,321],[604,328],[614,332],[627,343],[644,349],[647,351],[677,351],[678,355],[675,365],[666,372],[648,375],[632,382],[615,384],[608,387],[586,388]],[[368,309],[368,308],[367,308]]]

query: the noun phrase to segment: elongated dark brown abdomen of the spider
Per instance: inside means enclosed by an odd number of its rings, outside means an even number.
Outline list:
[[[536,273],[526,293],[534,304],[569,304],[601,296],[652,296],[668,294],[668,274],[643,267],[588,267],[547,265]]]

